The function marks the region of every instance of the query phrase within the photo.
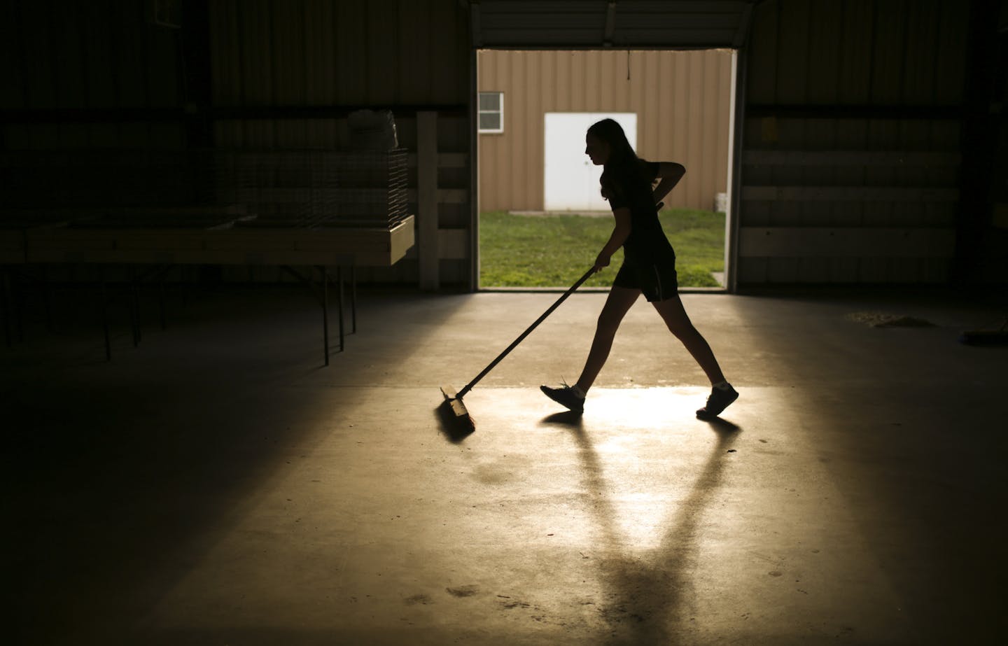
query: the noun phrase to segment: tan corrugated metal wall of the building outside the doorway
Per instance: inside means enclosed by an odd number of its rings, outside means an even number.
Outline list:
[[[668,206],[713,209],[727,191],[730,50],[486,49],[478,75],[504,93],[504,132],[479,135],[480,211],[542,210],[547,112],[637,113],[637,154],[686,167]]]

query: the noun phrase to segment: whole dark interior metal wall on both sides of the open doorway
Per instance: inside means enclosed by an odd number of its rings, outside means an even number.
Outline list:
[[[466,3],[184,0],[167,16],[180,28],[153,21],[155,4],[0,0],[0,150],[341,146],[358,107],[392,109],[415,149],[430,109],[455,153],[438,225],[472,226]],[[740,284],[1008,279],[1006,4],[756,5]],[[783,230],[798,237],[766,244]],[[830,231],[853,242],[808,244]],[[440,265],[444,282],[471,278],[468,258]],[[364,278],[415,274],[414,254]]]

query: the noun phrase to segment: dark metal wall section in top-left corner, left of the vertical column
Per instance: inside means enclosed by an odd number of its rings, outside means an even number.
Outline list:
[[[0,3],[0,148],[182,148],[179,32],[131,0]]]

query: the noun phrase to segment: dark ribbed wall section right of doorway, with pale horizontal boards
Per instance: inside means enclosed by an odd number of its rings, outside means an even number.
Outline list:
[[[950,280],[968,22],[959,0],[757,6],[740,284]]]

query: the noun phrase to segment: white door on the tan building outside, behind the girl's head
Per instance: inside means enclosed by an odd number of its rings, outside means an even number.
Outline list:
[[[602,119],[623,126],[627,141],[637,149],[637,114],[633,112],[547,112],[545,117],[545,176],[543,209],[546,211],[609,211],[599,193],[602,166],[585,154],[585,133]]]

